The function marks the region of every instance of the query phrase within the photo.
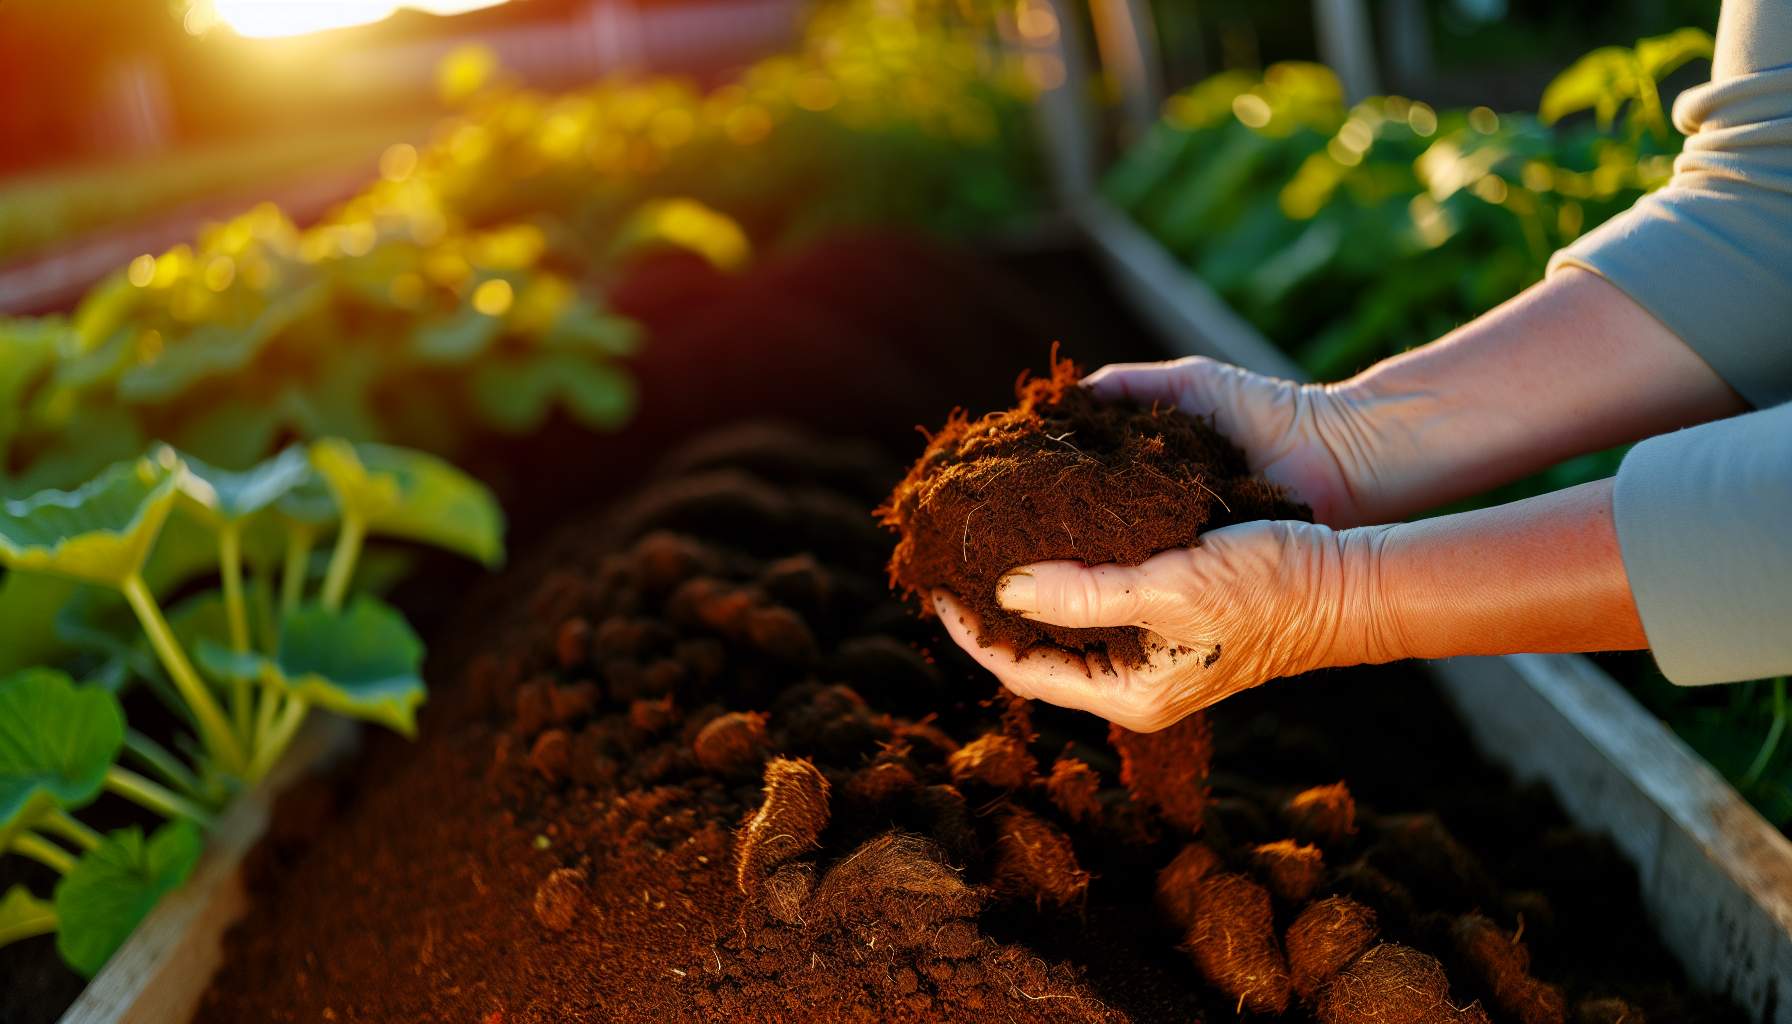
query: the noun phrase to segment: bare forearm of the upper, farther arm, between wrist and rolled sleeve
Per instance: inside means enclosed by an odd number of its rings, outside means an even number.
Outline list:
[[[1337,386],[1362,411],[1364,522],[1387,522],[1563,459],[1747,409],[1654,316],[1566,269],[1450,335]]]

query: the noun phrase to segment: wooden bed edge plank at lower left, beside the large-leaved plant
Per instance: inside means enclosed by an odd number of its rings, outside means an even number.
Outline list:
[[[315,716],[262,785],[226,809],[194,877],[156,904],[63,1013],[61,1024],[190,1019],[224,959],[224,933],[249,909],[242,859],[267,830],[274,798],[342,757],[353,737],[355,723]]]

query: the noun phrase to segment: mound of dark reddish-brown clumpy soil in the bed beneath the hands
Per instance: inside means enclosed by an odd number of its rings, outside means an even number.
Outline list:
[[[201,1020],[1731,1019],[1423,678],[1109,733],[889,594],[874,450],[668,464],[477,588],[416,744],[281,802]]]

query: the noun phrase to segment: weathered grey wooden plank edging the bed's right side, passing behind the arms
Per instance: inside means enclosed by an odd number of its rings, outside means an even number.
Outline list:
[[[1097,199],[1075,213],[1172,351],[1305,378],[1118,210]],[[1753,1020],[1792,1024],[1792,841],[1579,655],[1428,669],[1489,760],[1548,784],[1577,825],[1611,836],[1636,864],[1643,904],[1688,977]]]

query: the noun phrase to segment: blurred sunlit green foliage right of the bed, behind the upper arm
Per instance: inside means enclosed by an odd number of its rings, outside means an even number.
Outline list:
[[[1667,181],[1658,81],[1683,29],[1563,72],[1541,117],[1346,108],[1324,68],[1228,72],[1174,97],[1106,194],[1315,377],[1446,334],[1543,276],[1552,253]],[[1591,124],[1559,124],[1591,109]],[[1618,115],[1625,113],[1624,124]]]

